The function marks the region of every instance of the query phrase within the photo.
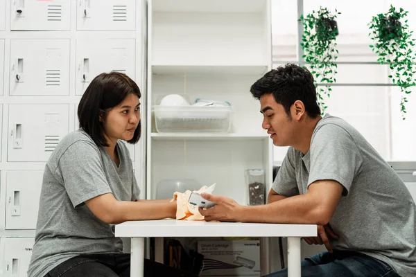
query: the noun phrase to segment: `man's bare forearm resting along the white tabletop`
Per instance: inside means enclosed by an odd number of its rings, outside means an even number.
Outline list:
[[[281,196],[281,195],[279,195]],[[277,198],[277,197],[276,197]],[[309,195],[296,195],[279,201],[269,199],[269,204],[243,206],[241,222],[282,223],[282,224],[320,224],[325,225],[320,206]]]

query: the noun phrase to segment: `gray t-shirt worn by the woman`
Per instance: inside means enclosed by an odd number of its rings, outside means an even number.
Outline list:
[[[44,170],[29,277],[44,276],[80,254],[123,251],[114,225],[99,220],[84,203],[105,193],[119,201],[139,199],[128,149],[119,141],[116,150],[119,168],[82,129],[56,147]]]

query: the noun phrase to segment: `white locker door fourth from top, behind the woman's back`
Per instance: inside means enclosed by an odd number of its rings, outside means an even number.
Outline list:
[[[36,229],[43,170],[6,172],[6,229]]]

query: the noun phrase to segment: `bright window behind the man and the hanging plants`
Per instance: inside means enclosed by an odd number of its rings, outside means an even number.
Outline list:
[[[303,3],[302,3],[303,2]],[[297,3],[302,6],[297,7]],[[401,119],[399,87],[391,84],[389,67],[376,62],[369,45],[367,24],[372,16],[387,12],[390,3],[409,11],[408,24],[416,30],[416,2],[272,0],[272,64],[273,68],[288,62],[302,63],[298,38],[300,15],[320,6],[338,10],[338,74],[332,87],[326,113],[339,116],[356,127],[365,139],[387,161],[416,161],[416,88],[408,96],[406,120]],[[416,38],[416,32],[414,33]],[[306,64],[307,66],[307,64]],[[287,148],[275,147],[274,159],[284,159]]]

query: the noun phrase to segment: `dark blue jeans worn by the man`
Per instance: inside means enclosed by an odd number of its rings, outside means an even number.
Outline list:
[[[288,276],[282,269],[267,277]],[[400,277],[390,265],[353,251],[323,252],[302,261],[302,277]]]

